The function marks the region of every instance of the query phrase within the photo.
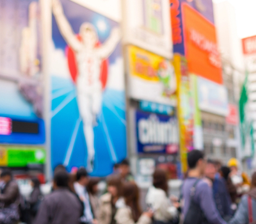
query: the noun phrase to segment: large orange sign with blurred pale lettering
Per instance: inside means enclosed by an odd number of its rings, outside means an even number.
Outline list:
[[[214,24],[186,3],[182,4],[182,14],[189,72],[222,84],[221,57]]]

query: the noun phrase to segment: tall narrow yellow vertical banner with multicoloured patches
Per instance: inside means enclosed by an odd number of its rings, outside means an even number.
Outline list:
[[[187,154],[193,149],[193,104],[191,100],[187,61],[174,55],[173,65],[177,76],[178,116],[180,127],[180,163],[182,173],[188,170]]]

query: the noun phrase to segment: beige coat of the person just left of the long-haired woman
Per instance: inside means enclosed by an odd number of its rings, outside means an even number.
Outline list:
[[[100,197],[99,203],[99,214],[98,222],[99,224],[110,224],[112,218],[112,205],[111,205],[111,195],[106,193]]]

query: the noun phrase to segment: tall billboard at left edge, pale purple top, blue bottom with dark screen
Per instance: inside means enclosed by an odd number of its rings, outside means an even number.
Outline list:
[[[4,1],[0,26],[0,142],[44,144],[40,4]]]

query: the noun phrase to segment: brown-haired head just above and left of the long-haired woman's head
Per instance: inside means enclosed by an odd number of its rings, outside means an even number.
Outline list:
[[[122,196],[123,184],[120,175],[111,175],[108,177],[108,193],[113,198],[119,198]]]

